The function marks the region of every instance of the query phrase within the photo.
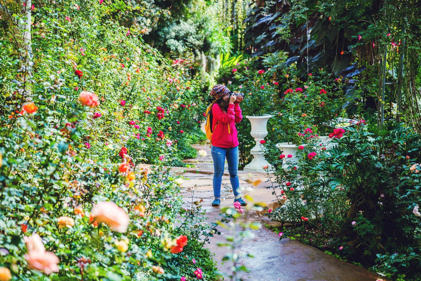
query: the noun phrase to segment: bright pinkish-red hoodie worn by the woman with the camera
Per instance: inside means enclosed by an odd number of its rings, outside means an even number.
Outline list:
[[[212,145],[224,148],[238,146],[237,128],[235,123],[242,119],[241,108],[239,103],[229,103],[227,112],[221,110],[219,105],[215,103],[212,106],[212,124],[215,130],[212,133]]]

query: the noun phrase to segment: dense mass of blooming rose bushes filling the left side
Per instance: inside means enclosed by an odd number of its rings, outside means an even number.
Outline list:
[[[193,277],[199,266],[216,279],[202,249],[215,229],[183,206],[163,167],[195,156],[189,143],[203,138],[195,69],[127,32],[124,3],[34,5],[30,48],[21,34],[0,35],[2,276],[153,280]]]

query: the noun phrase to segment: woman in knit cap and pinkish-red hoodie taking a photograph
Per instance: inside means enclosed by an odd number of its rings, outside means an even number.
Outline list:
[[[240,197],[240,183],[238,181],[238,139],[235,123],[242,119],[240,101],[242,96],[231,95],[224,85],[216,85],[210,91],[210,95],[215,98],[211,104],[213,114],[212,123],[212,148],[210,149],[213,158],[213,196],[215,200],[212,206],[221,204],[221,182],[224,175],[225,158],[228,162],[229,180],[234,191],[234,202],[239,202],[241,206],[247,203]]]

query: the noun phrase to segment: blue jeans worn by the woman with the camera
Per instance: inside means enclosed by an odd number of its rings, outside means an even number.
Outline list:
[[[221,197],[222,175],[224,175],[225,157],[228,162],[229,180],[231,181],[232,190],[235,198],[240,197],[240,182],[238,181],[238,146],[232,148],[224,148],[212,146],[210,148],[213,159],[213,196]]]

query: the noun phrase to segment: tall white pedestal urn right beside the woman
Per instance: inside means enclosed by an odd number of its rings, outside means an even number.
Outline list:
[[[253,160],[245,165],[244,170],[249,172],[265,172],[264,166],[271,167],[272,165],[264,158],[264,148],[260,141],[267,135],[267,121],[272,117],[270,114],[263,114],[262,116],[246,116],[250,120],[251,132],[250,135],[256,140],[256,146],[251,148],[250,154],[253,155]]]

